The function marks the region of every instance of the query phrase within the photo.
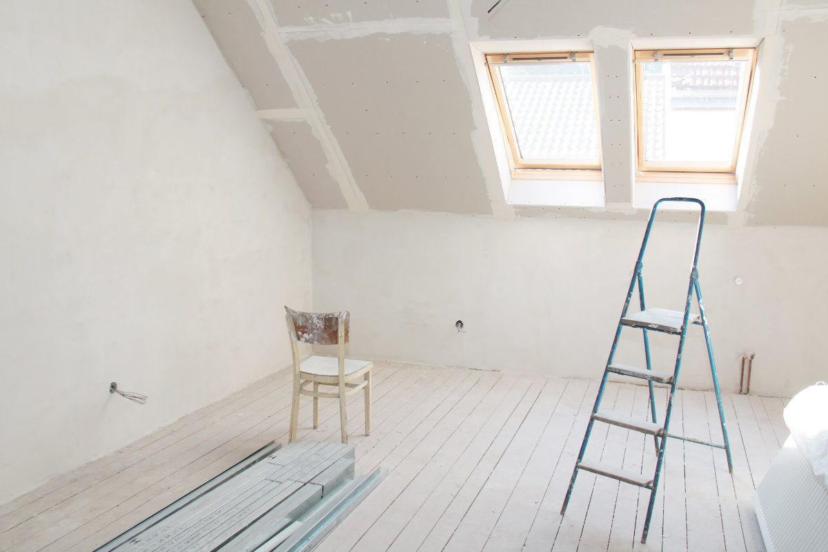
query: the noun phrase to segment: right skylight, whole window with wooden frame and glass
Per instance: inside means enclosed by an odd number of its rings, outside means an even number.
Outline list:
[[[734,172],[754,53],[635,51],[639,171]]]

